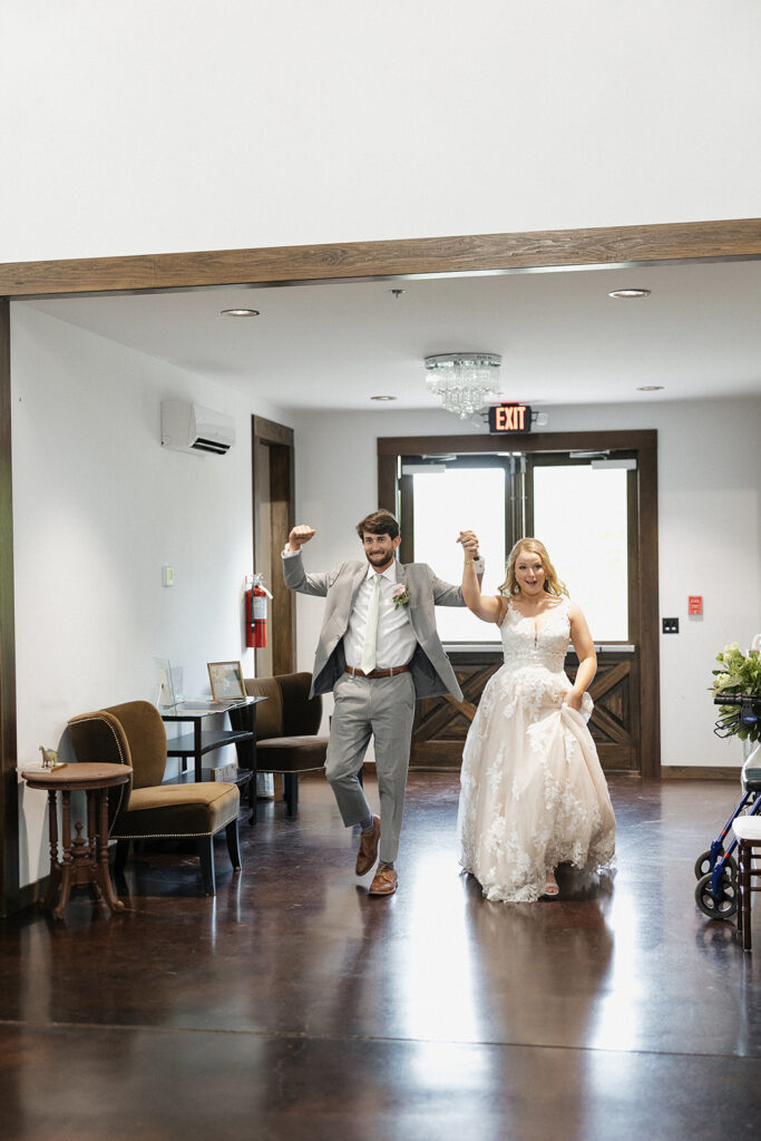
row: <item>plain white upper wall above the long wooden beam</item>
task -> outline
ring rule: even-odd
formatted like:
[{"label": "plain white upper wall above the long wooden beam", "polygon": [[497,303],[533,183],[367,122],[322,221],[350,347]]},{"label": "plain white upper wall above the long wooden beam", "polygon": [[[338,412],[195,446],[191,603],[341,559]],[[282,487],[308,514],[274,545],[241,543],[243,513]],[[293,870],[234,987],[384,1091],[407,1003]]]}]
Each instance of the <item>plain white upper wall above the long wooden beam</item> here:
[{"label": "plain white upper wall above the long wooden beam", "polygon": [[3,0],[0,261],[744,218],[758,0]]}]

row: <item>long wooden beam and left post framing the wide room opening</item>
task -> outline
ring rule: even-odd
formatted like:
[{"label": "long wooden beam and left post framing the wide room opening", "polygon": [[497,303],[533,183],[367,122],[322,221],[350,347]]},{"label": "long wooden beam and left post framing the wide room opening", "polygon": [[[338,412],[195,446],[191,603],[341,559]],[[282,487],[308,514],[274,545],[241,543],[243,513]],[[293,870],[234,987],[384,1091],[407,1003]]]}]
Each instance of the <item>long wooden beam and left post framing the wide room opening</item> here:
[{"label": "long wooden beam and left post framing the wide room opening", "polygon": [[761,258],[761,218],[0,264],[0,915],[19,905],[8,300]]}]

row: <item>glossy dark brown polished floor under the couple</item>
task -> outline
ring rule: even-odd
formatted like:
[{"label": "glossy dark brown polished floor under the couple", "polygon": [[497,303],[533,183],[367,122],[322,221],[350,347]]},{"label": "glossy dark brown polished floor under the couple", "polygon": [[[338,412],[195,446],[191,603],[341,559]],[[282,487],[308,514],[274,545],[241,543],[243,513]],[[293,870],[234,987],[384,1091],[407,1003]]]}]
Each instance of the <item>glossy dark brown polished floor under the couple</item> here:
[{"label": "glossy dark brown polished floor under the couple", "polygon": [[[372,779],[367,787],[375,795]],[[734,783],[613,778],[617,874],[489,904],[456,777],[415,774],[399,891],[370,898],[322,777],[241,817],[218,893],[144,855],[129,911],[0,921],[0,1138],[648,1141],[761,1135],[755,954],[694,904]]]}]

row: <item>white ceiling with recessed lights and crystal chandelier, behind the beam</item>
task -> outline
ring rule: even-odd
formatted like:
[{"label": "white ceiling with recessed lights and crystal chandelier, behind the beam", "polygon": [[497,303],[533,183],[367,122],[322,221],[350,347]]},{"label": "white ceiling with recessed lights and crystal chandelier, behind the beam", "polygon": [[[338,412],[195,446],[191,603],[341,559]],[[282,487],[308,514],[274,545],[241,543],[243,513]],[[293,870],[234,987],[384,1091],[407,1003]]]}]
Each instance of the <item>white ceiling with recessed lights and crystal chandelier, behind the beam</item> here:
[{"label": "white ceiling with recessed lights and crystal chandelier, behind the beam", "polygon": [[24,304],[282,407],[437,407],[422,358],[463,350],[501,353],[503,398],[532,405],[761,393],[761,261]]}]

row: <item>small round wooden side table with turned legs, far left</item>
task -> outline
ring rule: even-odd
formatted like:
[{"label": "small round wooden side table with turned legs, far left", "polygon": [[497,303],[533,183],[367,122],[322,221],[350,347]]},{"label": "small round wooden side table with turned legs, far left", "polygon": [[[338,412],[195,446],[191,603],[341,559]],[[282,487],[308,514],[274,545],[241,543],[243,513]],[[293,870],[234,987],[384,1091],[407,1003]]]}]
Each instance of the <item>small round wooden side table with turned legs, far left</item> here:
[{"label": "small round wooden side table with turned legs, far left", "polygon": [[[24,770],[22,776],[30,788],[41,788],[48,794],[48,824],[50,828],[50,887],[42,903],[52,908],[56,919],[62,920],[71,890],[75,885],[89,884],[96,899],[105,899],[112,912],[121,912],[124,905],[116,899],[108,874],[108,790],[127,784],[131,768],[128,764],[74,763],[50,772]],[[71,794],[87,793],[87,839],[82,837],[82,824],[75,824],[76,835],[72,840]],[[56,796],[60,793],[63,859],[58,859],[58,808]],[[60,898],[54,907],[56,892]]]}]

